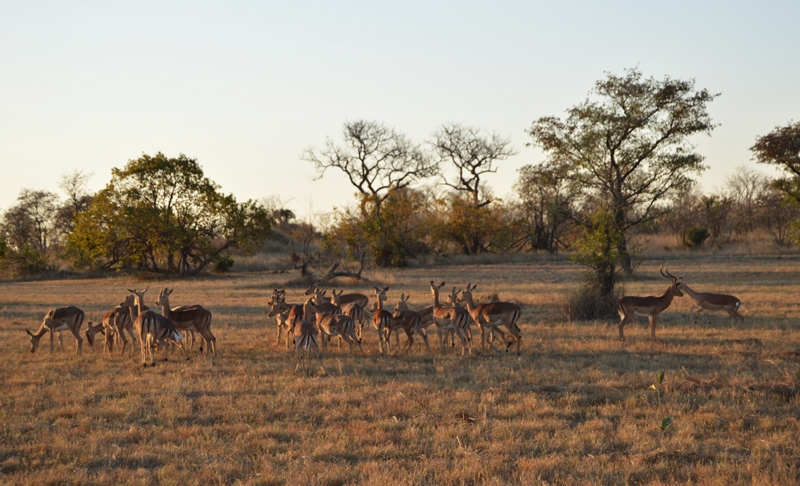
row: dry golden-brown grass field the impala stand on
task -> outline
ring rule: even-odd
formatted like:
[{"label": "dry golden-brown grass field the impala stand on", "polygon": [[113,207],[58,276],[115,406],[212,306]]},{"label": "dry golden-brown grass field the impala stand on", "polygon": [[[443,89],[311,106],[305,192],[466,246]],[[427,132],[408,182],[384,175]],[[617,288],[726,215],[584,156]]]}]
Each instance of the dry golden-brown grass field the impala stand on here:
[{"label": "dry golden-brown grass field the impala stand on", "polygon": [[[129,278],[0,284],[0,483],[5,484],[796,484],[800,482],[800,257],[673,259],[695,290],[732,293],[744,323],[690,322],[676,299],[651,342],[644,318],[568,322],[580,282],[567,262],[377,272],[392,305],[431,300],[428,282],[521,304],[522,355],[367,358],[329,348],[327,375],[294,373],[264,303],[286,275],[141,282]],[[645,261],[633,295],[660,295]],[[551,282],[554,274],[560,277]],[[142,368],[64,336],[29,352],[24,329],[72,304],[96,321],[127,288],[175,288],[173,305],[214,313],[219,355]],[[350,290],[366,292],[367,286]],[[300,301],[302,289],[287,290]],[[371,294],[374,297],[374,294]],[[374,300],[374,298],[371,298]],[[151,306],[154,307],[154,306]],[[84,323],[82,331],[85,331]],[[476,333],[477,335],[477,333]],[[402,341],[402,340],[401,340]],[[432,336],[432,348],[438,347]],[[665,372],[663,396],[650,388]],[[665,417],[673,423],[658,428]]]}]

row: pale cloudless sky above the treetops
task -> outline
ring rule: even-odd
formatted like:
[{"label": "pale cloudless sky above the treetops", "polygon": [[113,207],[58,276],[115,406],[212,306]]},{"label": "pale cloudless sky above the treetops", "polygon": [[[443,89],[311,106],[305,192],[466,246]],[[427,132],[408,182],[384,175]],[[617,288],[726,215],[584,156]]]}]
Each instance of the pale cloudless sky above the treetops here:
[{"label": "pale cloudless sky above the treetops", "polygon": [[22,188],[142,153],[197,158],[237,199],[278,195],[299,215],[354,201],[302,150],[346,120],[423,142],[447,121],[497,131],[519,154],[531,123],[564,116],[605,72],[694,78],[722,93],[692,141],[721,186],[755,138],[800,119],[800,2],[260,1],[0,3],[0,209]]}]

